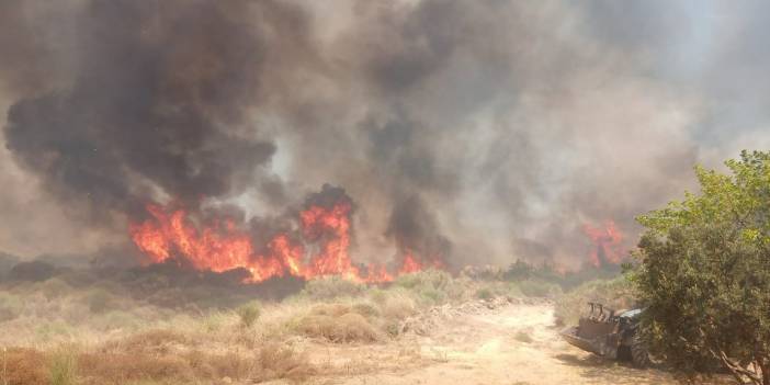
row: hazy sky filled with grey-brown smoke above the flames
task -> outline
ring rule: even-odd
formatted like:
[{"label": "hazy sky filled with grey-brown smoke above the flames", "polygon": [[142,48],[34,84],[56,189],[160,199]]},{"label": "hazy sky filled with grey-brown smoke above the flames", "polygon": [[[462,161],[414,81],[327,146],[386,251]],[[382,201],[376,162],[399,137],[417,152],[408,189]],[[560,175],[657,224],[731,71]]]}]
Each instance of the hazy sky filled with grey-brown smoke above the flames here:
[{"label": "hazy sky filled with grey-brown smoke above the flames", "polygon": [[329,183],[354,258],[579,264],[585,224],[632,247],[694,163],[770,144],[765,8],[3,2],[0,249],[120,242],[149,201],[260,228]]}]

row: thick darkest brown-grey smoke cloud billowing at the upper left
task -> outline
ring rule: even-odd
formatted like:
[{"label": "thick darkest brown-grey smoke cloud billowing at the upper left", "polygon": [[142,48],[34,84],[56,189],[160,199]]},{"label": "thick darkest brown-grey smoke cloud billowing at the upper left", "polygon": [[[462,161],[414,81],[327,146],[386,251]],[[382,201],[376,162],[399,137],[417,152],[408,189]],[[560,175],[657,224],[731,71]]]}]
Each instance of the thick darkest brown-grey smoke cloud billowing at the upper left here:
[{"label": "thick darkest brown-grey smoke cloud billowing at the upper left", "polygon": [[248,110],[304,23],[271,2],[89,2],[72,87],[11,106],[7,146],[54,194],[100,211],[135,212],[157,188],[188,205],[242,190],[275,151]]}]

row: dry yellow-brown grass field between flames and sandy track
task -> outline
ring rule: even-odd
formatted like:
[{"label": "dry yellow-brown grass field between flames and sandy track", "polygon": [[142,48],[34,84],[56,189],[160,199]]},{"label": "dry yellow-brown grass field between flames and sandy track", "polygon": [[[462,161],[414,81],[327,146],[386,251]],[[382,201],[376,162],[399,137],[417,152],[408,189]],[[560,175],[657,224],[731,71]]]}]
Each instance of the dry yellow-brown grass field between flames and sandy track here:
[{"label": "dry yellow-brown grass field between flames and sandy track", "polygon": [[[472,296],[478,288],[475,284],[440,272],[409,274],[380,288],[326,280],[310,283],[306,292],[288,301],[262,302],[260,312],[245,314],[236,305],[170,310],[134,302],[115,290],[109,291],[110,306],[100,306],[100,301],[87,301],[101,299],[87,295],[91,287],[50,281],[9,292],[7,296],[18,301],[8,302],[14,305],[14,317],[0,319],[0,328],[9,330],[0,336],[0,343],[38,349],[9,351],[9,384],[49,384],[55,372],[64,384],[82,385],[217,384],[225,378],[234,383],[302,382],[319,372],[374,369],[354,361],[326,367],[312,363],[301,347],[332,342],[327,344],[332,350],[364,349],[370,347],[360,344],[389,338],[401,343],[399,325],[405,319],[428,306]],[[256,304],[251,301],[240,304]],[[57,361],[56,347],[61,342],[77,342],[78,348]],[[403,367],[416,360],[409,354],[364,361]],[[444,358],[439,354],[435,360]]]}]

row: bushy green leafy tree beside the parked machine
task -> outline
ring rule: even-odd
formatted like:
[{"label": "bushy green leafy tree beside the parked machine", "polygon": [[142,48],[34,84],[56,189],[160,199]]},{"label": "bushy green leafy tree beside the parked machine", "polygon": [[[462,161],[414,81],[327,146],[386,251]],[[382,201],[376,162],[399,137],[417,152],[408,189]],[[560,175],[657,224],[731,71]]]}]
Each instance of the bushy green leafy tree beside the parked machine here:
[{"label": "bushy green leafy tree beside the parked machine", "polygon": [[691,378],[726,367],[770,384],[770,152],[725,165],[697,167],[700,194],[637,218],[632,280],[653,353]]}]

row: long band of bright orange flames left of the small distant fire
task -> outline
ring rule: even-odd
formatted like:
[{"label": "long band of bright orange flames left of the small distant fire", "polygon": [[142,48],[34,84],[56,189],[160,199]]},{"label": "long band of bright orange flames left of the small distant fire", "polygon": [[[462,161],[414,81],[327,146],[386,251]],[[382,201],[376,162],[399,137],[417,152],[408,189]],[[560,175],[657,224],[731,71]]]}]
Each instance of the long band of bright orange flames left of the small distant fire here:
[{"label": "long band of bright orange flames left of the small distant fire", "polygon": [[[394,280],[385,265],[364,268],[352,262],[349,202],[330,207],[310,205],[299,212],[299,235],[278,234],[261,252],[254,251],[252,238],[231,220],[195,226],[184,210],[157,204],[148,204],[146,208],[150,218],[132,224],[129,233],[149,263],[175,259],[196,270],[214,272],[242,268],[251,274],[248,280],[251,283],[285,275],[304,279],[339,275],[366,283]],[[443,267],[439,258],[423,264],[411,251],[406,251],[397,273],[420,271],[427,265]]]}]

